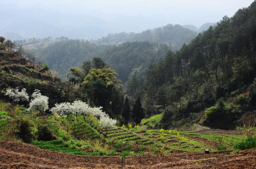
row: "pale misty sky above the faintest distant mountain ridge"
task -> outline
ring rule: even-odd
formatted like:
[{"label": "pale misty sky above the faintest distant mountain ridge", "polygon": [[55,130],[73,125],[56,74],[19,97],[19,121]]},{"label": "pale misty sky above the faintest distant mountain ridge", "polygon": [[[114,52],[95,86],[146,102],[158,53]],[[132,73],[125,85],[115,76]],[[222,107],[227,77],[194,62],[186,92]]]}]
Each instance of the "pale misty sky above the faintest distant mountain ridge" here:
[{"label": "pale misty sky above the faintest distant mountain ridge", "polygon": [[[253,0],[1,0],[23,8],[47,8],[52,11],[88,14],[105,20],[122,16],[145,16],[172,24],[200,26],[231,17]],[[15,12],[15,11],[14,11]]]}]

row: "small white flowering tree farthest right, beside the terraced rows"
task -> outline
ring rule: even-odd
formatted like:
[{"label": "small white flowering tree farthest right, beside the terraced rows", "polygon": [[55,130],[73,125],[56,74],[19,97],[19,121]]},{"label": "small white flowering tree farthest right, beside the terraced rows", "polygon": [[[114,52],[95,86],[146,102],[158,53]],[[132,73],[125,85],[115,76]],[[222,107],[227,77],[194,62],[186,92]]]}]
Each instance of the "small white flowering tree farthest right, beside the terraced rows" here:
[{"label": "small white flowering tree farthest right, beside the terraced rows", "polygon": [[108,135],[108,131],[116,127],[116,119],[112,119],[109,116],[102,116],[99,118],[99,127],[105,131],[105,135]]}]

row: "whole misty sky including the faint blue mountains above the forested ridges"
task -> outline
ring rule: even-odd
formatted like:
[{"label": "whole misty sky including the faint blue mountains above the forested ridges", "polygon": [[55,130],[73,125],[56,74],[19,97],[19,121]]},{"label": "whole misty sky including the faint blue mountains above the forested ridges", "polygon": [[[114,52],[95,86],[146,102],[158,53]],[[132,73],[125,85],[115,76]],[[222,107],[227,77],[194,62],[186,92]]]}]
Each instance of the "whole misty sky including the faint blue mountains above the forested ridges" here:
[{"label": "whole misty sky including the faint blue mountains above the forested ridges", "polygon": [[[0,0],[0,35],[9,39],[98,39],[167,24],[216,23],[253,0]],[[191,26],[190,26],[191,28]],[[207,28],[206,28],[207,29]],[[197,30],[196,28],[193,30]],[[201,30],[201,29],[199,29]]]}]

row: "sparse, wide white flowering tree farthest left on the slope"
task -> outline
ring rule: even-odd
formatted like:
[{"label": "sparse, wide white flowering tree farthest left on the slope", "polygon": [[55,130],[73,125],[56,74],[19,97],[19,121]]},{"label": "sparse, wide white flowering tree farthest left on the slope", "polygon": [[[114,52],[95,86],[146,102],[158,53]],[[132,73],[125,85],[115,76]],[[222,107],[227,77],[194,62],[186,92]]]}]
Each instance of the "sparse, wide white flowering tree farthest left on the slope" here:
[{"label": "sparse, wide white flowering tree farthest left on the slope", "polygon": [[23,88],[21,89],[21,91],[19,91],[20,89],[17,87],[15,89],[7,89],[5,96],[8,96],[10,99],[12,99],[12,101],[19,103],[22,101],[29,101],[29,95],[28,93],[26,93],[26,89]]}]

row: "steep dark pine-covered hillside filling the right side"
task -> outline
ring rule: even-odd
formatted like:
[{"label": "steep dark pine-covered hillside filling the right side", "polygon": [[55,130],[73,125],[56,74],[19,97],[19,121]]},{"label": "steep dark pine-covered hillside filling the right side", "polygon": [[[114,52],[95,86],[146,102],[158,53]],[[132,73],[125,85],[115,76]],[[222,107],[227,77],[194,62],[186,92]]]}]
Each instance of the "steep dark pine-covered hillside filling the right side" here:
[{"label": "steep dark pine-covered hillside filling the right side", "polygon": [[[242,114],[256,110],[255,57],[253,2],[148,68],[147,83],[140,87],[146,88],[140,96],[147,115],[164,112],[165,128],[186,124],[187,118],[225,129],[234,128],[240,118],[250,121],[254,114]],[[200,112],[201,121],[193,114]]]}]

